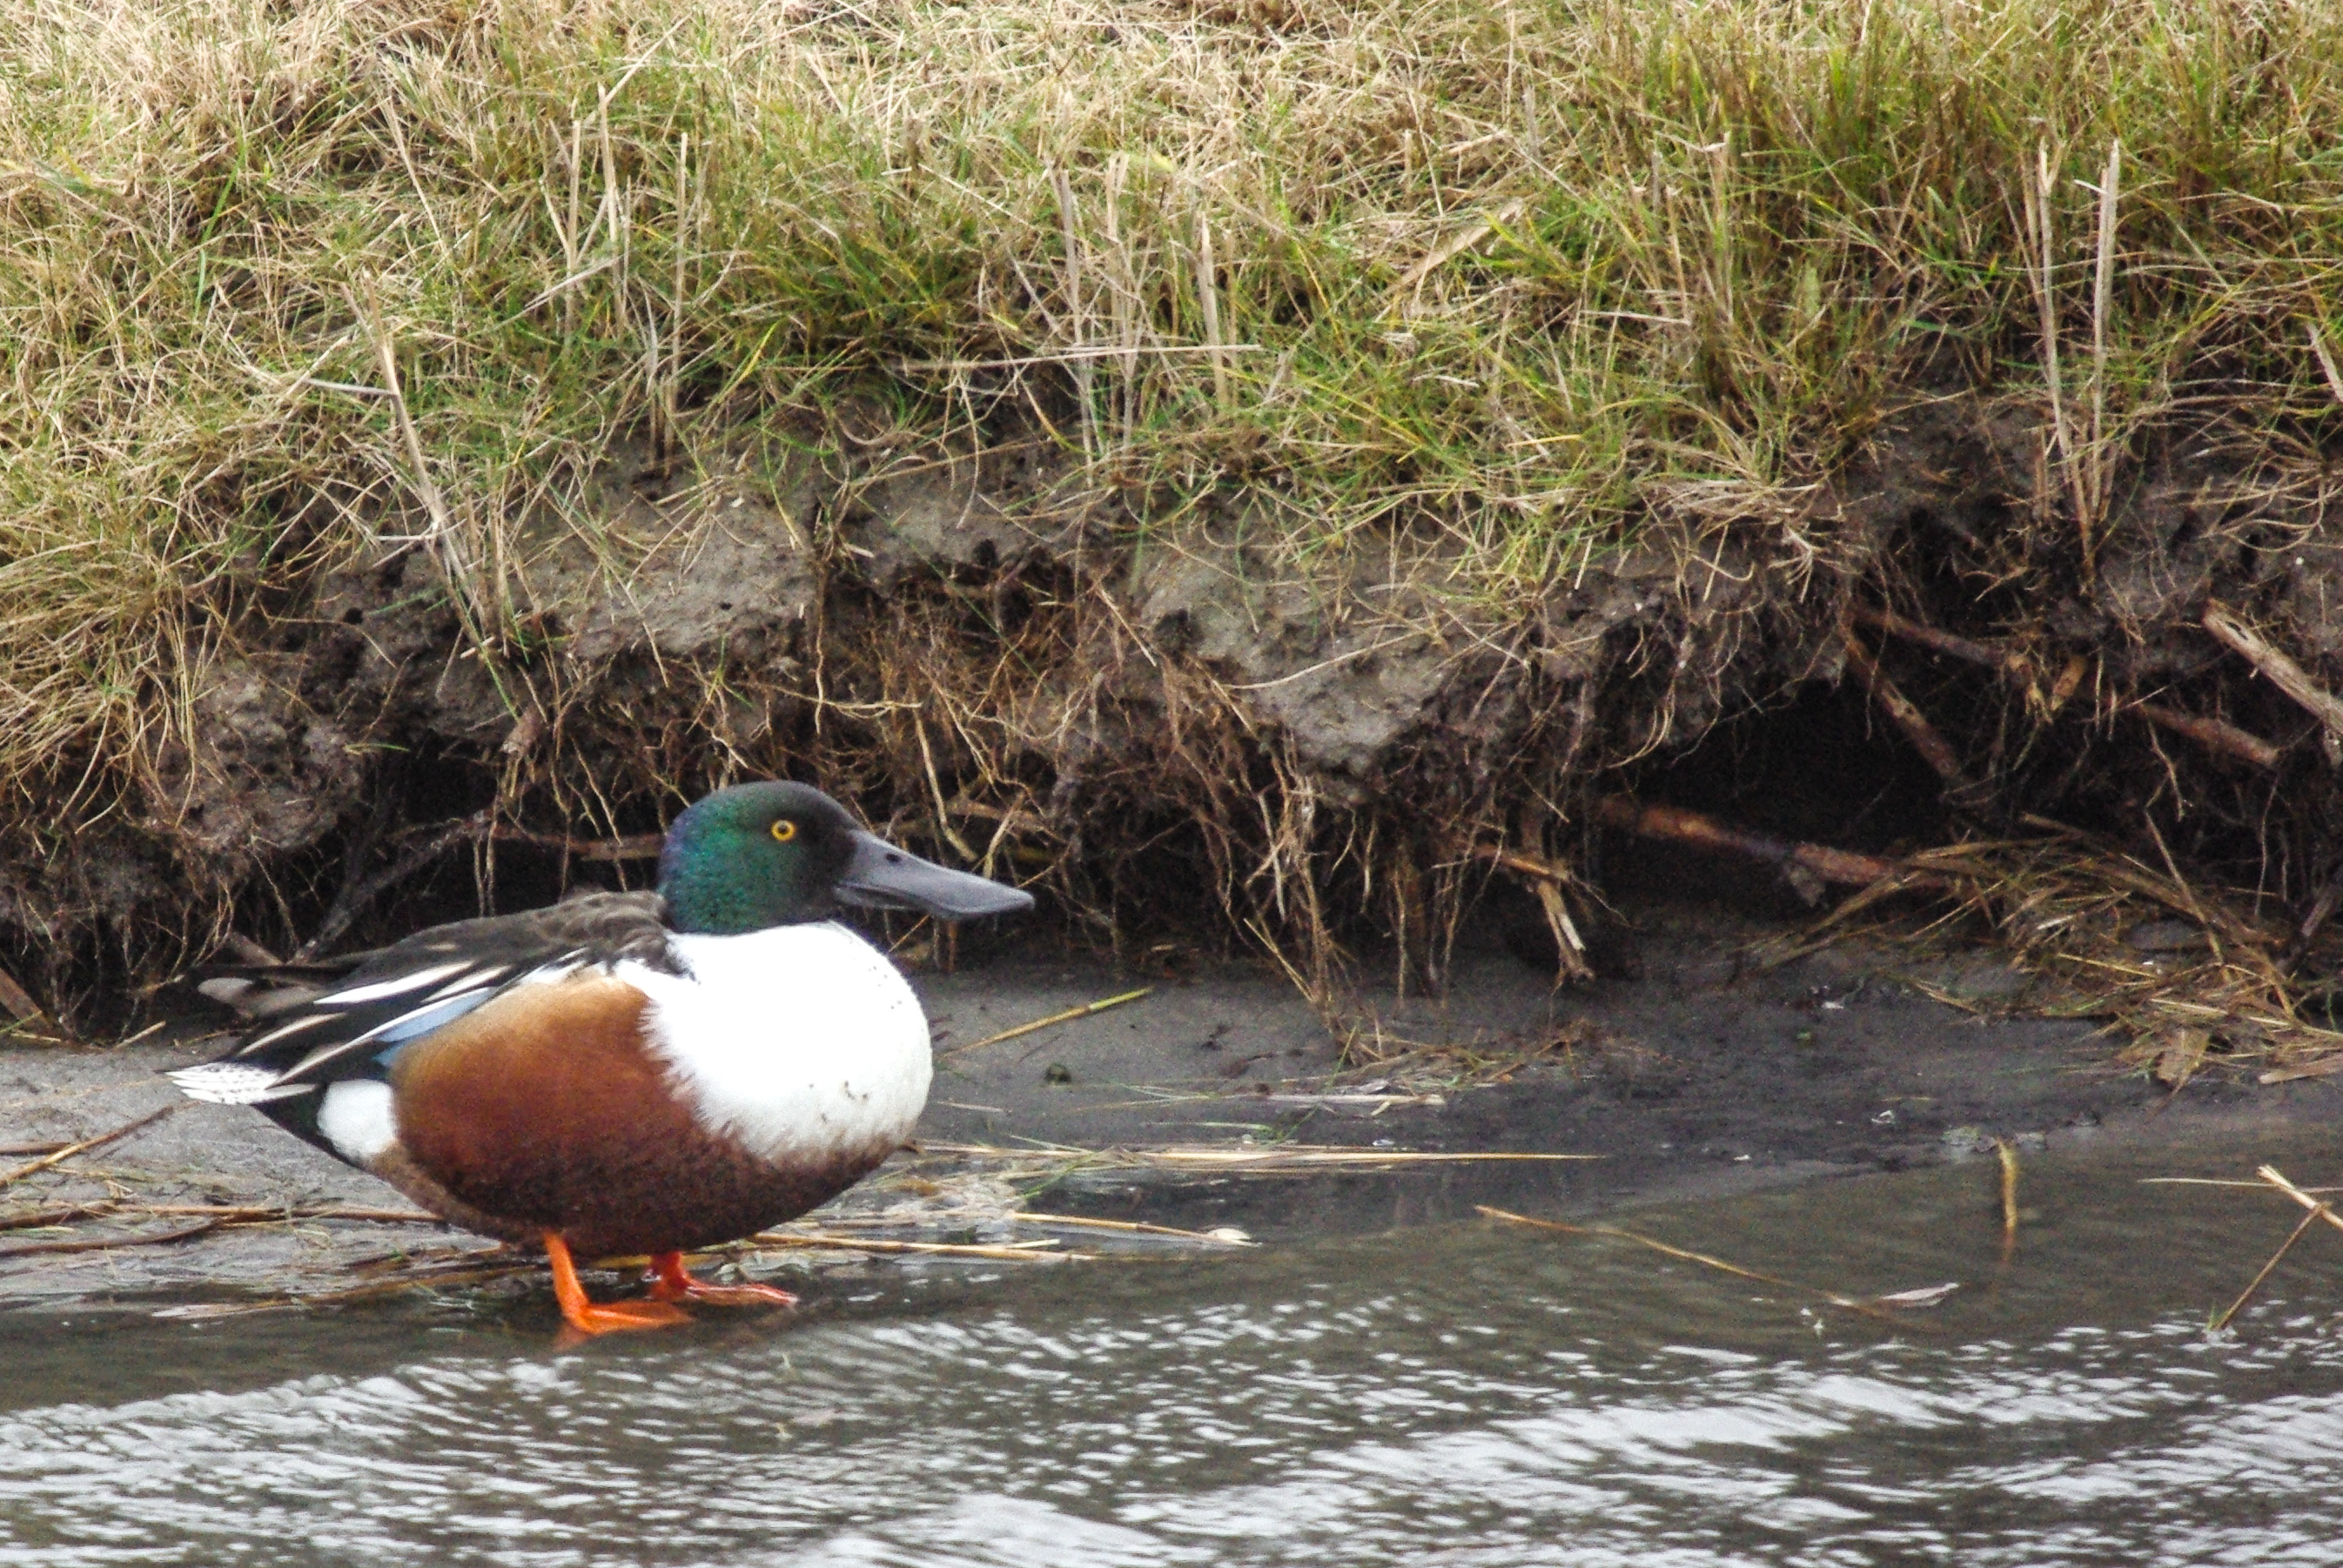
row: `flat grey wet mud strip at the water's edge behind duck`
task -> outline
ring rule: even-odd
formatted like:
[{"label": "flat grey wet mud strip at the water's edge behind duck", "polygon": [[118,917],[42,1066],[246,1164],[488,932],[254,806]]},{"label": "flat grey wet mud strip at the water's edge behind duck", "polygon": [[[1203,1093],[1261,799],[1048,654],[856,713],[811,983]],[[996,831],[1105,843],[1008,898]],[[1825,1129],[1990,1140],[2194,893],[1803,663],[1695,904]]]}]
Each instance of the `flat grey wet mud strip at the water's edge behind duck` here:
[{"label": "flat grey wet mud strip at the water's edge behind duck", "polygon": [[[2008,1139],[2020,1160],[2207,1132],[2252,1146],[2336,1109],[2324,1080],[2266,1090],[2198,1080],[2172,1097],[2144,1076],[2113,1076],[2085,1024],[1989,1017],[2022,977],[1987,952],[1914,973],[1893,952],[1835,949],[1755,973],[1736,954],[1767,935],[1762,923],[1713,905],[1635,914],[1642,975],[1579,991],[1556,994],[1502,945],[1467,942],[1446,998],[1385,998],[1389,1055],[1366,1071],[1340,1066],[1338,1041],[1286,980],[1244,966],[1150,977],[1029,947],[923,975],[940,1052],[923,1151],[806,1228],[947,1247],[1045,1235],[1087,1252],[1164,1245],[1007,1219],[1050,1212],[1237,1226],[1277,1242],[1455,1219],[1474,1202],[1598,1214],[1980,1155],[1977,1212],[1989,1216],[1994,1139]],[[1141,984],[1153,989],[1139,1001],[975,1045]],[[199,1041],[9,1050],[0,1057],[0,1146],[40,1151],[173,1104],[155,1073],[209,1050]],[[1143,1153],[1291,1144],[1593,1158],[1258,1174]],[[9,1165],[21,1158],[12,1153]],[[73,1216],[98,1205],[117,1209]],[[199,1228],[204,1205],[291,1205],[300,1216],[108,1245]],[[356,1308],[351,1291],[431,1287],[410,1270],[499,1261],[478,1238],[440,1226],[333,1216],[403,1207],[260,1116],[190,1104],[117,1146],[12,1184],[0,1198],[0,1223],[12,1226],[0,1230],[0,1303],[185,1310],[333,1296]],[[59,1223],[26,1223],[40,1216]],[[766,1249],[743,1254],[743,1266],[832,1289],[822,1280],[839,1270],[851,1282],[904,1261]],[[909,1266],[1015,1259],[947,1254]],[[604,1280],[616,1284],[616,1275]],[[433,1289],[466,1313],[544,1305],[541,1268],[448,1273]]]}]

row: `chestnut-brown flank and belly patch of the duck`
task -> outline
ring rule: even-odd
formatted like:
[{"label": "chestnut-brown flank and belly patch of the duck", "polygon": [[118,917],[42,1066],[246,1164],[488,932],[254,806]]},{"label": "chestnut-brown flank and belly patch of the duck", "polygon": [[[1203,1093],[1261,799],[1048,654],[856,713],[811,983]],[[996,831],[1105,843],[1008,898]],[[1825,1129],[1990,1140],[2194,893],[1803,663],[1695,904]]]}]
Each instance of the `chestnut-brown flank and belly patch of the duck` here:
[{"label": "chestnut-brown flank and belly patch of the duck", "polygon": [[375,1174],[450,1221],[581,1254],[708,1247],[829,1202],[893,1153],[771,1163],[715,1137],[642,1045],[647,998],[609,975],[508,991],[391,1073],[398,1144]]}]

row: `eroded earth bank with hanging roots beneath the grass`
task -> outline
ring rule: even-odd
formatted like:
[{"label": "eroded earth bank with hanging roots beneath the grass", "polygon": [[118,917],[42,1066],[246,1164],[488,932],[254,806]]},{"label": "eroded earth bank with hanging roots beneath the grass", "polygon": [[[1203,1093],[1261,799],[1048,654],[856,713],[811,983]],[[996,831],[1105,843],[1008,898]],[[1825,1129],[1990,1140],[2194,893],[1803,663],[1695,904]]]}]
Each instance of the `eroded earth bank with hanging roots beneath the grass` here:
[{"label": "eroded earth bank with hanging roots beneath the grass", "polygon": [[[1600,825],[1640,799],[1874,851],[1863,898],[1963,905],[2071,982],[2127,966],[2144,921],[2212,933],[2219,963],[2132,966],[2104,1008],[2146,1057],[2294,1071],[2343,1041],[2315,701],[2343,605],[2324,492],[2291,469],[2158,457],[2078,574],[2041,553],[2043,431],[1947,396],[1795,509],[1687,492],[1488,600],[1443,586],[1436,532],[1298,563],[1265,544],[1268,490],[1160,527],[1162,497],[996,424],[621,450],[583,513],[518,527],[487,640],[429,551],[321,558],[265,635],[206,654],[134,797],[0,834],[0,959],[52,1010],[119,1017],[223,945],[640,886],[684,799],[792,776],[1031,884],[1108,956],[1270,954],[1321,1003],[1436,991],[1502,891],[1544,900],[1584,980],[1642,853]],[[2268,677],[2275,645],[2308,687]],[[1982,848],[1914,870],[1940,846]],[[1781,872],[1804,907],[1846,895]],[[2052,872],[2074,909],[2041,907]]]}]

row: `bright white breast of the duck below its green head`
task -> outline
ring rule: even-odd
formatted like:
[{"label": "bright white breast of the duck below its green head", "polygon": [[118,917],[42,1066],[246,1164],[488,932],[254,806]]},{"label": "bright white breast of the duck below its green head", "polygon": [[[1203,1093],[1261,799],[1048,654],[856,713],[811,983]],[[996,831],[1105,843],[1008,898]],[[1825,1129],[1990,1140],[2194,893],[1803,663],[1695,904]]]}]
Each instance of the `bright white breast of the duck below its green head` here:
[{"label": "bright white breast of the duck below its green head", "polygon": [[616,973],[651,998],[644,1045],[710,1132],[776,1163],[888,1148],[928,1104],[928,1017],[853,930],[773,926],[670,938],[689,975]]}]

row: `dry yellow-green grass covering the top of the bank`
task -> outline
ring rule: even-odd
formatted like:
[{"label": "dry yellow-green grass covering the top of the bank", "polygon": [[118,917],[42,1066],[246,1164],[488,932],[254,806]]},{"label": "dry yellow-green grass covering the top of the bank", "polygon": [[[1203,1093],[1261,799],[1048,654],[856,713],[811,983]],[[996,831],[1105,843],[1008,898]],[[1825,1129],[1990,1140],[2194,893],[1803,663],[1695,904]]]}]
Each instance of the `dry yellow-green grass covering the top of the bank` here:
[{"label": "dry yellow-green grass covering the top of the bank", "polygon": [[1963,391],[2055,405],[2043,527],[2088,572],[2158,431],[2247,466],[2331,436],[2338,23],[23,0],[7,811],[169,818],[213,661],[387,544],[527,682],[515,534],[621,441],[1015,415],[1047,504],[1129,541],[1239,530],[1507,616],[1635,544],[1795,579],[1835,551],[1816,485]]}]

